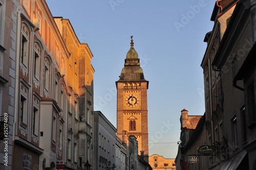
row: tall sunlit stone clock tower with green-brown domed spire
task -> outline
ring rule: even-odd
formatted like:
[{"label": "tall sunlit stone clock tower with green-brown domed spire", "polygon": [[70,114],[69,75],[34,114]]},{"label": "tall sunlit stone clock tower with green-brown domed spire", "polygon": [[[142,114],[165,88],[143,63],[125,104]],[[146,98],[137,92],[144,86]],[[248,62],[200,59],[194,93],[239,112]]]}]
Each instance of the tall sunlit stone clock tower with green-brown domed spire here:
[{"label": "tall sunlit stone clock tower with green-brown domed spire", "polygon": [[[133,38],[133,37],[131,37]],[[140,67],[138,53],[131,48],[126,54],[124,67],[121,70],[117,87],[117,136],[135,136],[138,141],[138,154],[148,161],[148,128],[147,128],[147,89]],[[129,142],[126,141],[127,144]]]}]

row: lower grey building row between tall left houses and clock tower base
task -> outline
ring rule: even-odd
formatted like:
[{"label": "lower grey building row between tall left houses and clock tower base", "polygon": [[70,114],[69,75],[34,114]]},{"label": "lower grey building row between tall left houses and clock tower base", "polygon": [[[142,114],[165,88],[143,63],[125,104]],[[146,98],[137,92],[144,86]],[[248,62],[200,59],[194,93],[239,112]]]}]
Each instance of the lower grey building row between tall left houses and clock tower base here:
[{"label": "lower grey building row between tall left houses and clock tower base", "polygon": [[100,112],[94,111],[94,160],[92,169],[152,169],[143,156],[138,155],[138,141],[133,135],[116,135],[117,129]]}]

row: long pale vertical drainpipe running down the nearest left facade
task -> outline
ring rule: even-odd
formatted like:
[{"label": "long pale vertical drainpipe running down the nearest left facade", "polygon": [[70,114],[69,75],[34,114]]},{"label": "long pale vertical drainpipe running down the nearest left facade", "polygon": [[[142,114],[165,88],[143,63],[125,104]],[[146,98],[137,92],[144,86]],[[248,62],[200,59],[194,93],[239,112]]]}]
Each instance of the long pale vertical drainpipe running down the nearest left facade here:
[{"label": "long pale vertical drainpipe running down the nearest left facade", "polygon": [[19,84],[19,51],[20,51],[20,26],[22,20],[20,17],[20,10],[17,12],[17,22],[16,22],[16,47],[15,47],[15,86],[14,86],[14,113],[13,113],[13,134],[12,141],[15,139],[15,129],[18,116],[18,84]]}]

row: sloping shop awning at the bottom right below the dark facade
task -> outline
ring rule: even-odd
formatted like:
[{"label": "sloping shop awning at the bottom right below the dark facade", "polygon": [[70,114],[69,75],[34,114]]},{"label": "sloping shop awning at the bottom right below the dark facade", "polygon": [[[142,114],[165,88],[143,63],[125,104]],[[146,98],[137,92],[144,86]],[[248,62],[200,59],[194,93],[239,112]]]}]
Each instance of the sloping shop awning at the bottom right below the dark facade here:
[{"label": "sloping shop awning at the bottom right below the dark facade", "polygon": [[237,155],[231,157],[230,159],[228,159],[224,165],[222,166],[221,170],[233,170],[233,169],[237,169],[237,167],[239,166],[239,164],[242,162],[242,160],[244,159],[245,155],[246,155],[246,151],[243,150],[240,153],[238,153]]}]

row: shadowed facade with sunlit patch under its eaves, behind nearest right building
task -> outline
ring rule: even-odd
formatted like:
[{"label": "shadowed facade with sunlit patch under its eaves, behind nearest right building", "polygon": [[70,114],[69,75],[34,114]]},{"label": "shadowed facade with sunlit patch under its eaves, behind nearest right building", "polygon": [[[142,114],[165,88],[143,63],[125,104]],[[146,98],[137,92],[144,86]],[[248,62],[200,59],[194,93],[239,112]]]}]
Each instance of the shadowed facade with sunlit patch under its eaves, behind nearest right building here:
[{"label": "shadowed facade with sunlit patch under its eaves, behind nearest right building", "polygon": [[[217,2],[218,3],[218,2]],[[230,2],[227,2],[229,4]],[[223,3],[225,4],[225,3]],[[207,42],[207,48],[202,60],[202,68],[204,69],[204,89],[205,89],[205,118],[206,118],[206,144],[212,145],[215,142],[224,142],[224,139],[227,138],[227,134],[230,132],[225,131],[225,126],[229,127],[230,124],[225,119],[224,116],[227,113],[223,112],[223,98],[224,95],[230,96],[231,94],[224,94],[224,87],[223,87],[223,75],[222,71],[226,71],[222,69],[221,71],[212,66],[212,61],[214,61],[216,54],[218,52],[219,45],[222,41],[223,35],[228,25],[228,21],[232,15],[234,8],[236,7],[236,3],[232,4],[228,8],[223,6],[222,11],[219,13],[213,13],[216,18],[213,20],[214,28],[212,29],[209,37],[206,38],[204,41]],[[215,8],[220,9],[218,6]],[[228,90],[233,90],[232,88],[228,87]],[[236,94],[240,95],[240,91]],[[225,102],[231,102],[232,99],[225,100]],[[230,107],[231,108],[231,107]],[[224,155],[217,154],[217,156],[209,156],[208,162],[209,167],[216,166],[216,164],[220,164],[222,160],[225,159]],[[221,165],[220,165],[221,166]]]}]

